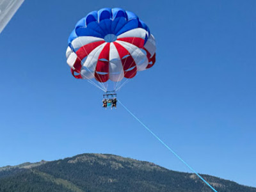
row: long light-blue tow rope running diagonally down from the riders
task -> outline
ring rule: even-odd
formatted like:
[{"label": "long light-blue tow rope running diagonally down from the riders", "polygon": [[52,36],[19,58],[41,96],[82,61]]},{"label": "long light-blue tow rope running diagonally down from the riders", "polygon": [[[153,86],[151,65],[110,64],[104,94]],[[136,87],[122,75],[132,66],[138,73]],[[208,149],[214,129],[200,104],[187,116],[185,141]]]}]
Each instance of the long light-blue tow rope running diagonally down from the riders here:
[{"label": "long light-blue tow rope running diagonally down from the riders", "polygon": [[118,102],[123,106],[123,108],[124,108],[128,113],[131,114],[131,116],[133,116],[141,125],[143,125],[143,127],[145,127],[145,129],[147,129],[148,132],[150,132],[158,141],[160,141],[160,143],[162,143],[162,144],[164,145],[164,147],[168,148],[168,150],[170,150],[170,152],[172,152],[172,153],[173,153],[182,163],[184,163],[193,173],[195,173],[202,181],[204,181],[205,184],[207,184],[207,186],[209,186],[209,187],[212,189],[212,191],[218,192],[218,191],[216,191],[216,189],[214,189],[203,177],[201,177],[201,176],[199,175],[199,173],[197,173],[193,168],[191,168],[191,166],[189,166],[189,164],[186,163],[186,161],[184,161],[180,156],[178,156],[178,154],[176,154],[176,153],[172,150],[172,148],[168,147],[168,145],[166,145],[166,143],[164,143],[163,140],[161,140],[156,134],[154,134],[154,132],[151,131],[151,130],[147,127],[147,125],[143,124],[143,122],[141,122],[140,119],[138,119],[129,109],[127,109],[127,108],[124,106],[124,104],[122,104],[122,102],[120,102],[119,99],[118,99]]}]

